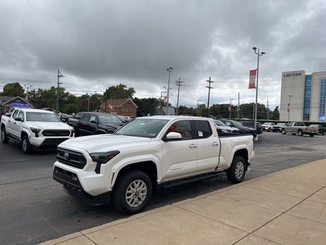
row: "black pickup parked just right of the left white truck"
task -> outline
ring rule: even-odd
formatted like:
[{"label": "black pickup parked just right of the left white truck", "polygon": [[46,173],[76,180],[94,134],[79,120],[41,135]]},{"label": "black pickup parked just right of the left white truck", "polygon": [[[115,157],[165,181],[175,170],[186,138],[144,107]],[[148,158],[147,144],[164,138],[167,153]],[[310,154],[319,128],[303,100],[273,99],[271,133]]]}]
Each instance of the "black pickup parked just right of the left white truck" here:
[{"label": "black pickup parked just right of the left white truck", "polygon": [[75,129],[76,136],[112,134],[124,125],[116,115],[101,112],[82,112],[80,119],[70,117],[68,123]]}]

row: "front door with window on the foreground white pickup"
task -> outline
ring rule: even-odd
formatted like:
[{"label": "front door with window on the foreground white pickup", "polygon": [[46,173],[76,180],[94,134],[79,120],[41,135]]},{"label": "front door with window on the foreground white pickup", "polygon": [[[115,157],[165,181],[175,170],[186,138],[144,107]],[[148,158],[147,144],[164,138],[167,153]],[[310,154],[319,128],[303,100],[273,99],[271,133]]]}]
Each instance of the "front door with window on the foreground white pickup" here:
[{"label": "front door with window on the foreground white pickup", "polygon": [[[167,141],[170,132],[180,133],[182,139]],[[197,173],[198,144],[193,136],[191,120],[178,120],[170,125],[161,138],[162,181],[189,177]]]}]

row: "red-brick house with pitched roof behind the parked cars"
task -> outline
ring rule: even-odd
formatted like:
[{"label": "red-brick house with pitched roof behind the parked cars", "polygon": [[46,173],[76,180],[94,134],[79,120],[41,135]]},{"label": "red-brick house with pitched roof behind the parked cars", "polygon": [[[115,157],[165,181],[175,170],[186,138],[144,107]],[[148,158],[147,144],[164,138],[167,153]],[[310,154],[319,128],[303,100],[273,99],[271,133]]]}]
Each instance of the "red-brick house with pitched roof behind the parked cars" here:
[{"label": "red-brick house with pitched roof behind the parked cars", "polygon": [[[131,99],[106,100],[106,113],[136,117],[137,108]],[[105,102],[100,105],[100,112],[105,112]]]}]

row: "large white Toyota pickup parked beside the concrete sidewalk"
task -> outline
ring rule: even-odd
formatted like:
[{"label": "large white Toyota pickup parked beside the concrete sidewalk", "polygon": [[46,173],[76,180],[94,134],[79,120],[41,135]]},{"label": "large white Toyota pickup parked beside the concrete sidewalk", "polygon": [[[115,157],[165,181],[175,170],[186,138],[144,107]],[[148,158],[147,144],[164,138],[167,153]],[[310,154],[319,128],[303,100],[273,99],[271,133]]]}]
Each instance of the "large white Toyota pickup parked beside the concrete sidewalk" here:
[{"label": "large white Toyota pickup parked beside the concrete sidewalk", "polygon": [[230,182],[241,182],[253,148],[253,135],[218,135],[210,118],[139,117],[114,134],[62,142],[53,179],[84,202],[100,205],[112,199],[119,211],[131,214],[140,212],[157,188],[223,171]]}]

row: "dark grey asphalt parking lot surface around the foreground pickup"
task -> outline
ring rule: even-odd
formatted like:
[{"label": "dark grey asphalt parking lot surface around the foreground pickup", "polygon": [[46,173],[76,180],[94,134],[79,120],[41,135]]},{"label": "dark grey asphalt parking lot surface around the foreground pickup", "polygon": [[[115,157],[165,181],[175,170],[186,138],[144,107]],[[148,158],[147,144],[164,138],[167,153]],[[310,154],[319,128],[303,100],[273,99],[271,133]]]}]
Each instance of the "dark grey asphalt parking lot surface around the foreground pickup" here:
[{"label": "dark grey asphalt parking lot surface around the foreground pickup", "polygon": [[[255,141],[255,158],[245,180],[324,159],[326,136],[267,133]],[[23,155],[20,145],[0,143],[0,244],[35,244],[125,217],[111,205],[75,200],[52,180],[56,152]],[[146,210],[231,185],[225,174],[209,181],[161,191]]]}]

